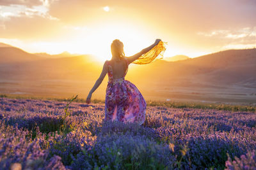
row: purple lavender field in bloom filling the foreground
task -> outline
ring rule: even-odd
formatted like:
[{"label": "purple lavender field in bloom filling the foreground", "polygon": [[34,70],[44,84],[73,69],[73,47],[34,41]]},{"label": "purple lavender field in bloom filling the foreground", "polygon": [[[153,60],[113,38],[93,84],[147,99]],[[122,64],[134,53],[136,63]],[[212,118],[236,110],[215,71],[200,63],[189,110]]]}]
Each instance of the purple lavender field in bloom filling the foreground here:
[{"label": "purple lavender field in bloom filling the foreground", "polygon": [[256,169],[256,113],[148,106],[140,126],[104,122],[104,104],[0,100],[0,169]]}]

